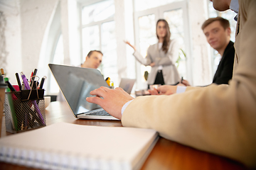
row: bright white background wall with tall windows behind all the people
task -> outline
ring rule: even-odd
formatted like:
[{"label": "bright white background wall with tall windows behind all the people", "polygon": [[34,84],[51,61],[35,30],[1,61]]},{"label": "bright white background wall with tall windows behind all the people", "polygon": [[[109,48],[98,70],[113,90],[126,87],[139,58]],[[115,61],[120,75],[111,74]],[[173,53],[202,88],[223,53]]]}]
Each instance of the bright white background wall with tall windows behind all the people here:
[{"label": "bright white background wall with tall windows behind all the people", "polygon": [[[137,79],[134,90],[146,89],[144,72],[129,40],[143,56],[157,42],[156,21],[169,22],[171,39],[181,45],[178,72],[193,86],[210,84],[220,55],[206,41],[201,25],[222,16],[231,24],[233,11],[218,12],[209,0],[0,0],[0,67],[16,84],[15,73],[46,76],[45,94],[57,94],[58,85],[48,63],[78,66],[90,50],[104,54],[100,71],[114,86],[121,78]],[[28,77],[27,76],[27,77]]]}]

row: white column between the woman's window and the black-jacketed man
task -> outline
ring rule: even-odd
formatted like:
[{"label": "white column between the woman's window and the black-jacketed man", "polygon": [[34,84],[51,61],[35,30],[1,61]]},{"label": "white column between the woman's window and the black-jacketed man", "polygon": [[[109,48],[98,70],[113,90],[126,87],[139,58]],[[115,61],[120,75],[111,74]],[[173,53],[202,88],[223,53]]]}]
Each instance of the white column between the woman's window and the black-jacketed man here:
[{"label": "white column between the woman's window and the black-jacketed man", "polygon": [[193,86],[212,82],[210,49],[201,26],[208,18],[208,4],[204,0],[188,0],[188,13],[191,25]]}]

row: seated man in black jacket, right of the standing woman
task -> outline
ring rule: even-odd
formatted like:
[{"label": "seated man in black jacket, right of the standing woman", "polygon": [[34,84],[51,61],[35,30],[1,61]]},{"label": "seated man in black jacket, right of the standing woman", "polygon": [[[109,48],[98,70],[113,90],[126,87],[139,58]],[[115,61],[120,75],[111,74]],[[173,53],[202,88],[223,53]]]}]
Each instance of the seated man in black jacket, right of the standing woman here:
[{"label": "seated man in black jacket, right of the standing woman", "polygon": [[[202,25],[203,33],[214,50],[217,50],[221,56],[220,63],[213,77],[215,84],[228,84],[233,76],[233,65],[235,48],[234,42],[230,41],[230,23],[225,18],[209,18]],[[190,86],[188,81],[183,80],[181,83]]]}]

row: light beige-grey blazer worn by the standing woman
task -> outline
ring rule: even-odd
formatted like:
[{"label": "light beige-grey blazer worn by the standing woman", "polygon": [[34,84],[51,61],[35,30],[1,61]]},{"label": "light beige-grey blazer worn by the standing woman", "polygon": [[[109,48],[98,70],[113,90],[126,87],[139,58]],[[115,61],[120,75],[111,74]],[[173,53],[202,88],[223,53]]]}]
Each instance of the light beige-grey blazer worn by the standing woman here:
[{"label": "light beige-grey blazer worn by the standing woman", "polygon": [[151,67],[151,72],[149,73],[149,77],[147,79],[148,84],[154,84],[156,74],[158,72],[158,67],[160,65],[163,66],[162,72],[164,83],[176,84],[180,79],[178,75],[178,69],[175,66],[175,62],[178,60],[178,42],[177,40],[171,40],[167,53],[159,49],[158,46],[158,43],[150,45],[145,58],[142,57],[142,55],[137,51],[135,51],[133,55],[140,63],[144,64],[145,66],[155,62],[154,67]]}]

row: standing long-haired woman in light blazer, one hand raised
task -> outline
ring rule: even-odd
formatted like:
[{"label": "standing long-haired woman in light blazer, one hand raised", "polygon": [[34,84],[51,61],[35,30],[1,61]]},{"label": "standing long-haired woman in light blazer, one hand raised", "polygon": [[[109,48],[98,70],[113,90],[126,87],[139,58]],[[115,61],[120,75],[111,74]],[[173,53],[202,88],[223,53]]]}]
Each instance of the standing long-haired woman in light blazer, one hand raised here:
[{"label": "standing long-haired woman in light blazer, one hand raised", "polygon": [[133,55],[140,63],[151,66],[151,72],[147,79],[148,85],[178,84],[180,78],[175,62],[178,60],[179,45],[176,40],[170,40],[171,32],[166,20],[159,19],[157,21],[156,36],[159,42],[149,46],[145,58],[134,45],[127,41],[126,43],[134,49]]}]

